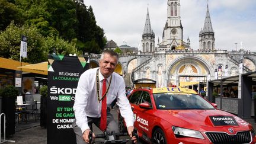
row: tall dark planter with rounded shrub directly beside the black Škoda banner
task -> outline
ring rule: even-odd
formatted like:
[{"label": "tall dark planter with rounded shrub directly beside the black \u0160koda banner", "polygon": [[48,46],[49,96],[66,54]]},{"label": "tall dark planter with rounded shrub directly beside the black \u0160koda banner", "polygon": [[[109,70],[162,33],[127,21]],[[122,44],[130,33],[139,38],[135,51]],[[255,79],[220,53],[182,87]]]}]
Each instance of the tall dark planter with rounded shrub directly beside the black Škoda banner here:
[{"label": "tall dark planter with rounded shrub directly beside the black \u0160koda banner", "polygon": [[47,85],[43,85],[43,87],[40,88],[40,126],[41,127],[47,127],[46,117],[47,117]]}]

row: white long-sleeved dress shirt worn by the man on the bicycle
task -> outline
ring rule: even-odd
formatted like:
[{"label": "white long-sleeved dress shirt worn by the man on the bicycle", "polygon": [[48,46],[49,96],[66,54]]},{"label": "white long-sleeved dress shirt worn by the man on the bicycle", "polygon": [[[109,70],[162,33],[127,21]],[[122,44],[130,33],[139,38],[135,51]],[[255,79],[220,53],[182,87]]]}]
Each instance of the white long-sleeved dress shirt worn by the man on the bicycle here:
[{"label": "white long-sleeved dress shirt worn by the man on the bicycle", "polygon": [[[76,89],[73,110],[75,111],[76,125],[81,128],[82,133],[89,129],[87,116],[101,117],[101,101],[98,103],[97,95],[97,69],[98,68],[88,69],[82,73]],[[98,76],[100,81],[99,95],[101,98],[104,76],[100,71],[98,72]],[[110,83],[110,77],[111,76],[107,78],[107,88]],[[110,88],[108,89],[106,96],[108,107],[111,105],[114,99],[117,98],[117,105],[119,105],[121,116],[124,117],[124,120],[126,121],[126,126],[133,126],[133,112],[125,94],[124,79],[116,72],[112,73]]]}]

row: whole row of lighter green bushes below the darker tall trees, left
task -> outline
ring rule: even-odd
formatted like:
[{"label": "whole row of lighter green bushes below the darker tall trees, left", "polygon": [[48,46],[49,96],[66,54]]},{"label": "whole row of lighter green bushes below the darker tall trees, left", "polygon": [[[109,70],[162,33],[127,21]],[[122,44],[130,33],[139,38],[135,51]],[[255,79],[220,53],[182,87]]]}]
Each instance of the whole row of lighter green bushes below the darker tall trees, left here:
[{"label": "whole row of lighter green bushes below the darker tall trees, left", "polygon": [[53,52],[53,47],[57,50],[57,54],[76,53],[74,44],[68,41],[53,36],[43,37],[34,26],[19,26],[11,23],[0,33],[0,57],[20,60],[21,35],[27,37],[27,58],[23,58],[23,62],[44,62],[48,53]]}]

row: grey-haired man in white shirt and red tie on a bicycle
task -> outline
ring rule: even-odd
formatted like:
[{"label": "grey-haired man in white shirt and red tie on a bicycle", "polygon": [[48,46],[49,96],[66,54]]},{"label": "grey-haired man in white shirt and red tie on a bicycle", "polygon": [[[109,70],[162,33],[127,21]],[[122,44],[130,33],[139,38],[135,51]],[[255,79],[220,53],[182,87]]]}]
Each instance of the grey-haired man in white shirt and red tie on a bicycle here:
[{"label": "grey-haired man in white shirt and red tie on a bicycle", "polygon": [[[116,52],[105,50],[100,57],[100,68],[89,69],[82,73],[79,78],[75,104],[73,105],[76,120],[72,124],[76,133],[76,143],[78,144],[89,142],[88,135],[92,129],[92,123],[103,131],[119,132],[118,124],[114,121],[110,108],[107,108],[107,120],[104,120],[107,121],[107,124],[101,122],[101,118],[104,117],[104,112],[101,113],[104,98],[106,98],[105,103],[108,107],[117,98],[121,116],[126,121],[127,132],[132,140],[136,141],[136,137],[132,136],[134,119],[132,108],[125,93],[124,79],[114,72],[118,60],[119,56]],[[104,85],[105,88],[103,88]],[[102,124],[107,126],[102,128]]]}]

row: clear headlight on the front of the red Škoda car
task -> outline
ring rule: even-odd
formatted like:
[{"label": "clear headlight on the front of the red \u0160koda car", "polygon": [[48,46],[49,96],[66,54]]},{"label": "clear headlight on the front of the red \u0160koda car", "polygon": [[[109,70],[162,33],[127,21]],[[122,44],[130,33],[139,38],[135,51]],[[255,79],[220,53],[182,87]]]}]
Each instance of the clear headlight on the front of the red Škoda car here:
[{"label": "clear headlight on the front of the red \u0160koda car", "polygon": [[184,129],[181,127],[172,126],[172,130],[175,136],[187,136],[187,137],[195,137],[199,139],[204,139],[203,135],[197,130]]}]

